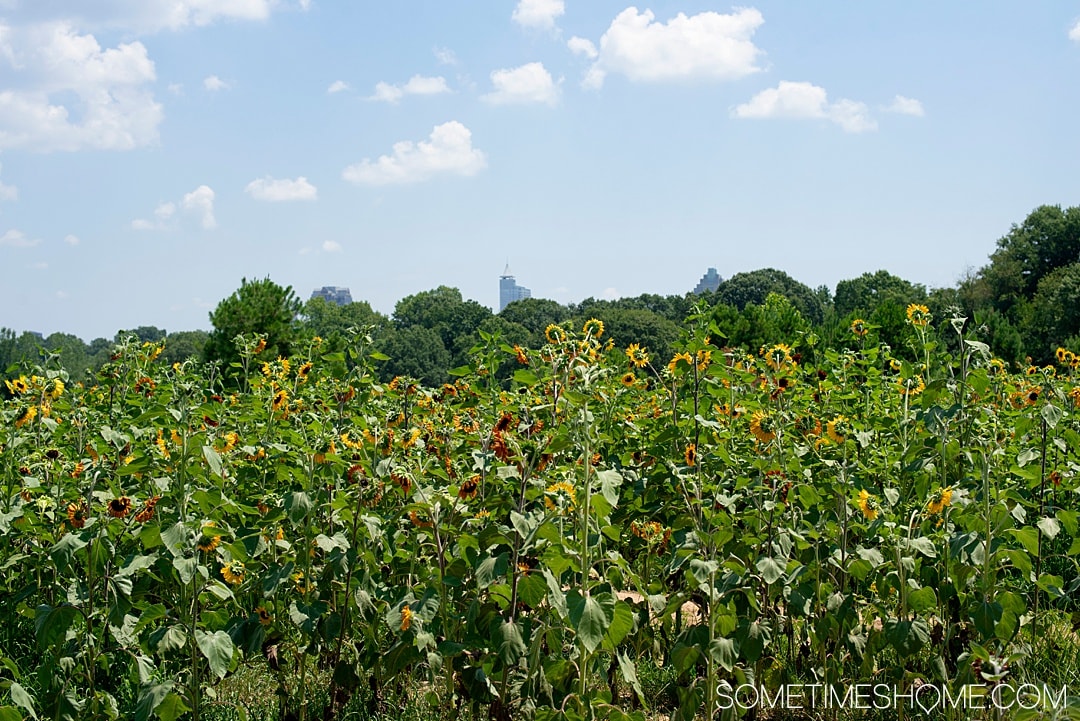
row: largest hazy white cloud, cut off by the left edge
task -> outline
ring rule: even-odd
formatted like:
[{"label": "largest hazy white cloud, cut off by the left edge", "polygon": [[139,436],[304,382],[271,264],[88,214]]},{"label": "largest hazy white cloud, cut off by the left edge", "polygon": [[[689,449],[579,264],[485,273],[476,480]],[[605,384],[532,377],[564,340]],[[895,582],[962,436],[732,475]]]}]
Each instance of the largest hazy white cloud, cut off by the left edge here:
[{"label": "largest hazy white cloud, cut off by the left edge", "polygon": [[130,150],[158,139],[163,113],[140,42],[103,50],[63,23],[0,25],[0,150]]}]

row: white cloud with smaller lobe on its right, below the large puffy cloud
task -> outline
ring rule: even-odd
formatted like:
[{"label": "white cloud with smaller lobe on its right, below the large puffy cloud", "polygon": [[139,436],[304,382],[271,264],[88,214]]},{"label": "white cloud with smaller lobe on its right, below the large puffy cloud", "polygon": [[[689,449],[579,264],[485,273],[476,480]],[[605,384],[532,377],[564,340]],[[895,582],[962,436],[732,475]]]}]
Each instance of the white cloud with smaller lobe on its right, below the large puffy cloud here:
[{"label": "white cloud with smaller lobe on its right, below the large puffy cloud", "polygon": [[841,98],[829,103],[824,87],[808,82],[781,81],[731,111],[732,118],[818,118],[829,120],[848,133],[877,128],[864,103]]}]

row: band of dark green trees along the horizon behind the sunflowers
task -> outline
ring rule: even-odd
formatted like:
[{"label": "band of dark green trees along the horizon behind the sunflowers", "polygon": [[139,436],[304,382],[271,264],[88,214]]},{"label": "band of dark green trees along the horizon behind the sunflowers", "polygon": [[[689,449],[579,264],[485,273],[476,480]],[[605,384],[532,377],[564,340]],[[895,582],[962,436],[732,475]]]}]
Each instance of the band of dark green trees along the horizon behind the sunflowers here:
[{"label": "band of dark green trees along the horizon behind the sunflowers", "polygon": [[[580,325],[590,317],[603,321],[616,343],[638,343],[653,357],[667,358],[696,307],[708,311],[723,342],[733,348],[755,351],[792,338],[800,338],[800,352],[811,355],[818,349],[853,346],[865,338],[852,331],[852,324],[861,321],[861,332],[865,329],[874,340],[902,352],[912,332],[905,323],[912,303],[927,307],[939,321],[968,318],[976,336],[1013,364],[1048,363],[1057,346],[1080,350],[1080,207],[1036,208],[998,240],[984,267],[967,272],[950,288],[928,290],[879,270],[840,281],[831,293],[767,268],[737,273],[702,296],[645,294],[566,304],[529,298],[500,313],[462,298],[457,288],[440,286],[403,298],[387,316],[364,301],[302,302],[292,287],[270,278],[244,278],[211,313],[208,332],[143,326],[87,344],[70,334],[42,338],[0,328],[0,369],[56,353],[72,377],[84,377],[109,362],[114,343],[134,336],[143,342],[165,341],[170,362],[218,363],[228,376],[239,362],[239,335],[261,334],[268,356],[287,357],[294,346],[314,337],[343,352],[349,329],[366,328],[386,357],[381,372],[387,379],[408,376],[438,384],[465,365],[482,332],[498,334],[510,345],[538,348],[552,324]],[[941,325],[942,341],[954,342],[956,334]]]}]

